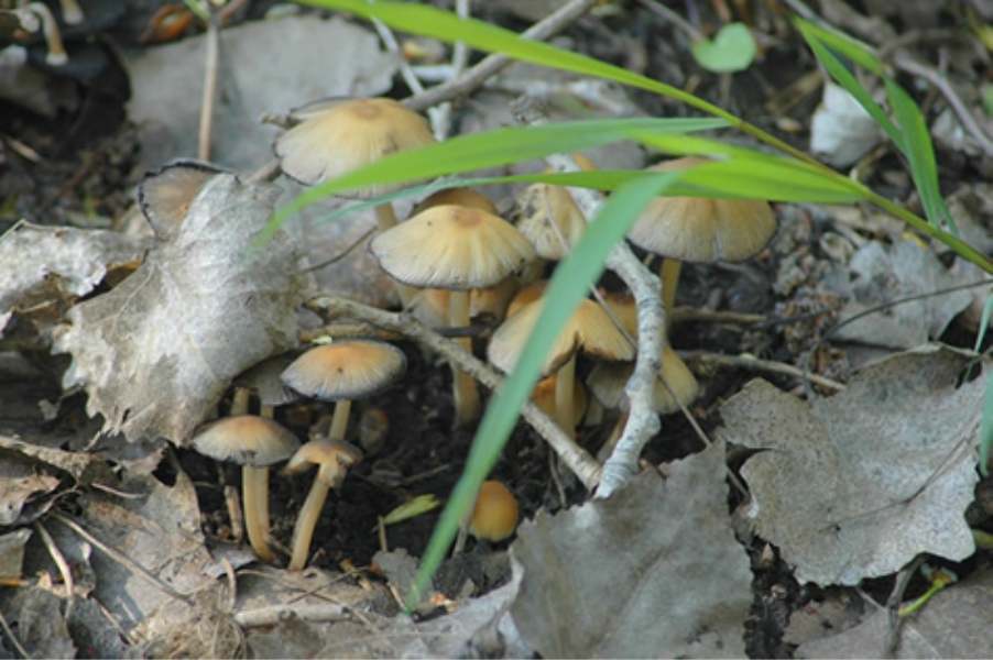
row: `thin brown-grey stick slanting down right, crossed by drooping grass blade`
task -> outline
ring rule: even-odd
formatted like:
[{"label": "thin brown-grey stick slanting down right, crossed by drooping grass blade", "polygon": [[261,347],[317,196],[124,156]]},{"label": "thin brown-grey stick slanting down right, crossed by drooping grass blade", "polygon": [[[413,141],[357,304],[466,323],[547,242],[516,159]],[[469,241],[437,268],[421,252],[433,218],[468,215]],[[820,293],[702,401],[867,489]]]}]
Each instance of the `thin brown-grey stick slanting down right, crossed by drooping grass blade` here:
[{"label": "thin brown-grey stick slanting down right, crossed by drooping grass blade", "polygon": [[[404,337],[438,353],[471,375],[490,389],[496,389],[503,377],[496,371],[449,339],[445,339],[422,322],[402,314],[383,311],[353,300],[319,296],[304,304],[304,307],[321,316],[325,320],[338,318],[357,319],[379,326],[385,330],[399,332]],[[534,402],[526,402],[521,408],[522,416],[552,446],[563,462],[576,473],[582,484],[592,490],[600,479],[600,464],[583,449],[576,444],[552,417],[546,415]]]}]

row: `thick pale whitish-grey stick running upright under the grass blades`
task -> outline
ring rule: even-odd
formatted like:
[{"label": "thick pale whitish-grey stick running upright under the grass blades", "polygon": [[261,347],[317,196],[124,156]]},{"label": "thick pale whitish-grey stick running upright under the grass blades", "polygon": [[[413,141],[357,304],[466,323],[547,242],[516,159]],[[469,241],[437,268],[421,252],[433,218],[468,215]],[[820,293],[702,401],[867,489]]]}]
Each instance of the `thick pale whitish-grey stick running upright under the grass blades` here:
[{"label": "thick pale whitish-grey stick running upright under the grass blades", "polygon": [[[527,125],[548,122],[547,112],[535,99],[525,97],[513,106],[514,117]],[[571,156],[552,154],[545,158],[556,172],[580,172]],[[588,219],[597,218],[603,198],[596,190],[568,188],[576,205]],[[662,344],[665,332],[665,309],[662,285],[651,271],[634,256],[626,243],[613,246],[607,256],[607,267],[624,280],[637,305],[637,358],[634,373],[624,387],[630,402],[630,418],[616,448],[603,465],[597,497],[610,497],[637,473],[637,460],[645,443],[662,429],[653,407],[655,378],[662,370]]]}]

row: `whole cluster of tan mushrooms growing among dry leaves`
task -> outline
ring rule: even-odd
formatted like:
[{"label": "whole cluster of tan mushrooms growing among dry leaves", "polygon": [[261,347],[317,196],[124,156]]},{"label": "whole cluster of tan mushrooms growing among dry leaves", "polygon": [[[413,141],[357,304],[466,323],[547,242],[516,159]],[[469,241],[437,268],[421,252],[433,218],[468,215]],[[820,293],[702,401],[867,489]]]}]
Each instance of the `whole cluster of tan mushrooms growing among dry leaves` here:
[{"label": "whole cluster of tan mushrooms growing among dry leaves", "polygon": [[[435,142],[421,116],[390,99],[324,101],[292,117],[297,123],[276,140],[274,151],[282,172],[307,186],[332,180],[391,153]],[[690,167],[699,161],[679,158],[650,169]],[[586,158],[577,156],[577,162],[586,169],[596,168]],[[352,190],[350,196],[374,199],[401,187]],[[390,204],[375,207],[380,231],[369,242],[380,266],[396,282],[404,308],[413,310],[425,324],[467,328],[481,315],[503,319],[485,352],[504,372],[513,369],[541,312],[547,262],[564,258],[588,221],[567,189],[545,184],[530,186],[516,200],[514,215],[516,226],[501,218],[484,195],[447,189],[422,200],[403,222],[397,221]],[[764,249],[775,230],[775,216],[764,201],[661,197],[639,217],[629,239],[664,257],[663,298],[672,309],[681,262],[749,258]],[[467,337],[457,341],[470,352],[481,349]],[[577,426],[593,408],[592,402],[601,410],[618,410],[620,420],[611,433],[615,441],[625,421],[624,384],[633,370],[636,341],[636,310],[629,294],[608,294],[605,306],[585,300],[543,363],[545,380],[535,388],[534,400],[574,438]],[[579,353],[596,361],[585,383],[577,378]],[[662,364],[655,407],[658,414],[667,414],[689,405],[698,394],[698,384],[668,342],[663,348]],[[299,570],[306,564],[314,525],[328,490],[337,487],[348,468],[362,459],[362,453],[346,442],[348,402],[389,386],[404,366],[404,354],[379,341],[318,345],[287,366],[282,382],[303,396],[338,402],[327,438],[298,447],[296,438],[272,421],[271,415],[245,415],[240,394],[236,394],[231,417],[214,422],[195,438],[200,452],[221,460],[239,459],[244,464],[247,529],[262,560],[274,561],[265,541],[268,465],[288,459],[284,469],[288,473],[318,466],[294,531],[290,568]],[[471,425],[481,410],[478,384],[455,365],[452,370],[456,420],[461,426]],[[610,440],[603,451],[609,451],[609,446]],[[495,512],[489,517],[488,507]],[[467,526],[471,522],[479,538],[499,540],[513,532],[516,520],[513,495],[502,484],[488,482]]]}]

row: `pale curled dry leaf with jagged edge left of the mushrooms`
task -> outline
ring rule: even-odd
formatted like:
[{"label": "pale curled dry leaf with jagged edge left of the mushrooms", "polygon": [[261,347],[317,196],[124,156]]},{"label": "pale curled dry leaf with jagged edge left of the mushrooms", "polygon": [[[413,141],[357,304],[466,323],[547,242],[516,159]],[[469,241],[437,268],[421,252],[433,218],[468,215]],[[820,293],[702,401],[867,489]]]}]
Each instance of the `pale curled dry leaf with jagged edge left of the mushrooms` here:
[{"label": "pale curled dry leaf with jagged edge left of the mushrooms", "polygon": [[73,355],[63,384],[86,388],[105,431],[184,443],[232,377],[296,344],[288,237],[250,253],[279,194],[218,175],[134,274],[69,310],[55,343]]}]

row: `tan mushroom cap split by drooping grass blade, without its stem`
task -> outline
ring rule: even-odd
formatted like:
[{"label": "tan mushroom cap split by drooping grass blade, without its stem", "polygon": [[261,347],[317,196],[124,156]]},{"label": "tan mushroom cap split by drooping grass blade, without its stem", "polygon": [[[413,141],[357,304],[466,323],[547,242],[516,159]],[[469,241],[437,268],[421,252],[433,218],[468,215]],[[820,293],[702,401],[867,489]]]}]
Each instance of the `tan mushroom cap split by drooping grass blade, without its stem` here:
[{"label": "tan mushroom cap split by drooping grass blade, without its stem", "polygon": [[[514,369],[544,305],[544,299],[525,305],[493,333],[487,356],[498,369],[503,372]],[[542,364],[542,374],[547,376],[558,371],[577,350],[600,360],[634,359],[634,348],[607,312],[589,298],[580,301],[555,338]]]}]

